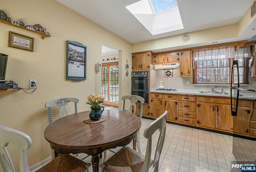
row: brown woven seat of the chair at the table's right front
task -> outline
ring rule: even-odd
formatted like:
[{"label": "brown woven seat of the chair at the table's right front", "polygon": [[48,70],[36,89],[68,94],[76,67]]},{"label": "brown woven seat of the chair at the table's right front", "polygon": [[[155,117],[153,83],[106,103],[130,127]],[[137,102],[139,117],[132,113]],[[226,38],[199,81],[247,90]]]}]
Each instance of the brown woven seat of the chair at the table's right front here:
[{"label": "brown woven seat of the chair at the table's right front", "polygon": [[[103,172],[141,172],[145,157],[132,148],[121,148],[104,164]],[[150,161],[152,166],[153,160]]]}]

